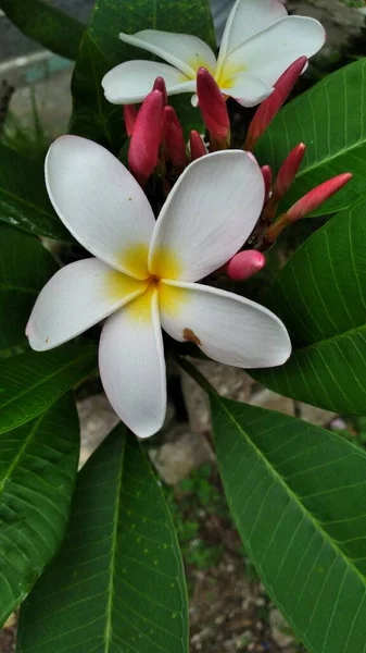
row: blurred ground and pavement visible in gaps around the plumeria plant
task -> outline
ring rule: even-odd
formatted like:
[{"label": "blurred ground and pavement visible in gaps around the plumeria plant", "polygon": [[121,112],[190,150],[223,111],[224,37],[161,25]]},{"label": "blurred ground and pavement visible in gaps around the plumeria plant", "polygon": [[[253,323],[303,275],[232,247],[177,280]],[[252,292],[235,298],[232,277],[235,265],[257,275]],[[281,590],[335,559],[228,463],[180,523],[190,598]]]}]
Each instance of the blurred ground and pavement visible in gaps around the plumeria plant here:
[{"label": "blurred ground and pavement visible in gaps around the plumeria plant", "polygon": [[[87,23],[94,1],[52,3]],[[211,0],[211,4],[219,40],[232,0]],[[298,93],[366,56],[364,1],[288,0],[286,4],[291,13],[318,19],[328,33],[326,47],[312,60]],[[73,63],[40,49],[1,11],[0,44],[0,138],[9,147],[36,157],[56,136],[67,133]],[[235,107],[231,110],[240,137],[241,114]],[[293,239],[304,238],[315,226],[313,220],[311,225],[307,222],[291,232],[270,264],[268,261],[269,271],[283,264],[295,245]],[[255,279],[256,285],[265,281]],[[198,365],[224,396],[302,417],[365,446],[366,418],[354,420],[280,397],[241,370],[212,361]],[[205,396],[174,368],[169,380],[172,401],[166,424],[149,441],[147,453],[164,483],[182,547],[190,593],[191,653],[304,653],[266,595],[231,522],[211,446]],[[80,393],[78,410],[83,465],[117,419],[98,385]],[[0,653],[15,651],[15,627],[16,614],[0,631]]]}]

